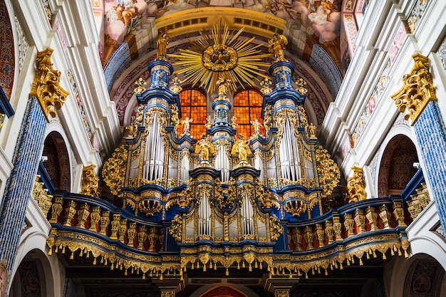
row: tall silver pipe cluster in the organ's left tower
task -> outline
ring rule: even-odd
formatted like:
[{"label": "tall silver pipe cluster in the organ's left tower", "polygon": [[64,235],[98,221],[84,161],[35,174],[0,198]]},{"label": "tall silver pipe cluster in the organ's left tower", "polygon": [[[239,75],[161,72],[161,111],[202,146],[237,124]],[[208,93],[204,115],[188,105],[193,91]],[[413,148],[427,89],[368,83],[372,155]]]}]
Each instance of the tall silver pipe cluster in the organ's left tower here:
[{"label": "tall silver pipe cluster in the organ's left tower", "polygon": [[147,135],[147,142],[145,143],[142,177],[147,180],[154,180],[162,177],[162,171],[164,169],[164,153],[165,147],[161,138],[160,125],[157,120],[157,115],[155,115]]}]

